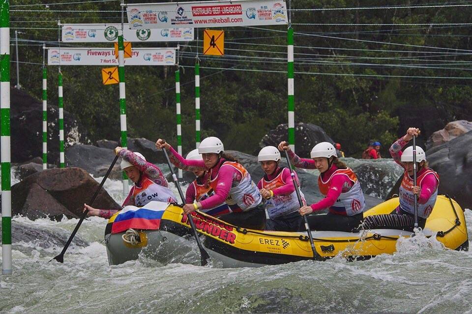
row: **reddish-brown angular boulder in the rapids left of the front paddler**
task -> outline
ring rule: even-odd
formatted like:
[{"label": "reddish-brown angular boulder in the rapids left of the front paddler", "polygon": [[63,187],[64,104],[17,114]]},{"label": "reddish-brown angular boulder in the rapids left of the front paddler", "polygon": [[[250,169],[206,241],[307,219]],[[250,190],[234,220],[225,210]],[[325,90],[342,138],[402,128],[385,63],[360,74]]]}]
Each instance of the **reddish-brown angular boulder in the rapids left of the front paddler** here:
[{"label": "reddish-brown angular boulder in the rapids left of the front paddler", "polygon": [[[36,219],[49,215],[78,218],[84,203],[90,202],[99,184],[80,168],[56,168],[30,175],[11,187],[12,213]],[[90,205],[90,204],[89,204]],[[103,188],[92,204],[95,208],[116,209],[119,205]]]}]

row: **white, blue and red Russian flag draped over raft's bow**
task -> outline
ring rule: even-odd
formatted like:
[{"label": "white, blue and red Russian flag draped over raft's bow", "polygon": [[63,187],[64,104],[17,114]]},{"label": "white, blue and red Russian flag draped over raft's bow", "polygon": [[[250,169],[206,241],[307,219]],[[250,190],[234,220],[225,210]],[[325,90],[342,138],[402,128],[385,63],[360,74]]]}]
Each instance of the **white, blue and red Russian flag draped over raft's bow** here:
[{"label": "white, blue and red Russian flag draped over raft's bow", "polygon": [[112,225],[112,234],[124,232],[129,228],[158,230],[161,218],[169,203],[149,202],[144,207],[126,206],[121,209]]}]

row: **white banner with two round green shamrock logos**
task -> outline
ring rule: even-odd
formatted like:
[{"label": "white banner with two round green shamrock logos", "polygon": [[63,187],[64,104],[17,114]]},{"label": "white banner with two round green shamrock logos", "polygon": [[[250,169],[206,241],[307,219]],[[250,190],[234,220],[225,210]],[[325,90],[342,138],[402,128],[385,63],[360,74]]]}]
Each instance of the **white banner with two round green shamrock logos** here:
[{"label": "white banner with two round green shamrock logos", "polygon": [[[107,43],[118,41],[121,24],[61,24],[62,41],[71,43]],[[130,42],[172,42],[194,40],[193,28],[130,29],[123,26],[123,37]]]}]

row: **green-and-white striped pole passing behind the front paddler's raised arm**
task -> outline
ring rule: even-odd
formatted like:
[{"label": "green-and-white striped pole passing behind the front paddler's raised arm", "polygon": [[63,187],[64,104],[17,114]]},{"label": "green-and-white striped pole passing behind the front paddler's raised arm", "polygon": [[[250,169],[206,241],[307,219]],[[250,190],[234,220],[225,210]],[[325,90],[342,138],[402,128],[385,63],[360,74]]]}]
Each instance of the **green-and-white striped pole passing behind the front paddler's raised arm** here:
[{"label": "green-and-white striped pole passing behind the front paddler's raised arm", "polygon": [[[119,78],[119,121],[121,130],[121,147],[128,148],[128,132],[126,129],[126,89],[124,80],[124,41],[123,32],[118,36],[118,78]],[[128,195],[128,177],[123,171],[123,195]]]}]

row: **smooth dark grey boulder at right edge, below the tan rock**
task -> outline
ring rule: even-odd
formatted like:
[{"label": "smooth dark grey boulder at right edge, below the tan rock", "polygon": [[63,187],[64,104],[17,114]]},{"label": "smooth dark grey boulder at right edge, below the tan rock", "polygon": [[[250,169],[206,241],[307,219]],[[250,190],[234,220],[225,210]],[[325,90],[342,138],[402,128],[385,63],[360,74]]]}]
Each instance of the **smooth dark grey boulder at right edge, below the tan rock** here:
[{"label": "smooth dark grey boulder at right edge, below the tan rock", "polygon": [[426,158],[440,176],[439,192],[472,209],[472,131],[433,147]]}]

